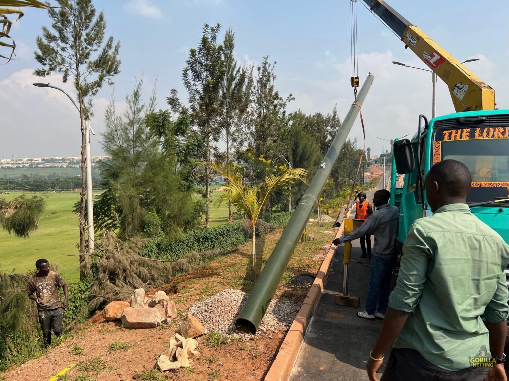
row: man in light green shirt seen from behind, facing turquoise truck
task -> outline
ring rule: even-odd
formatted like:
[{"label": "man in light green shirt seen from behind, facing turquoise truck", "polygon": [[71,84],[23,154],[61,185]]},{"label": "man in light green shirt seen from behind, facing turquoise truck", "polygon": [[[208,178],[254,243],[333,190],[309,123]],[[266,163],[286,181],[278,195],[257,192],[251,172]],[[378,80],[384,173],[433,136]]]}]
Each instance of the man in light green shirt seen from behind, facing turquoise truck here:
[{"label": "man in light green shirt seen from behind, facing turquoise truck", "polygon": [[483,380],[487,373],[487,379],[506,380],[509,246],[465,205],[470,183],[468,168],[455,160],[434,165],[426,177],[434,215],[417,219],[408,231],[398,282],[367,363],[372,381],[391,346],[382,381]]}]

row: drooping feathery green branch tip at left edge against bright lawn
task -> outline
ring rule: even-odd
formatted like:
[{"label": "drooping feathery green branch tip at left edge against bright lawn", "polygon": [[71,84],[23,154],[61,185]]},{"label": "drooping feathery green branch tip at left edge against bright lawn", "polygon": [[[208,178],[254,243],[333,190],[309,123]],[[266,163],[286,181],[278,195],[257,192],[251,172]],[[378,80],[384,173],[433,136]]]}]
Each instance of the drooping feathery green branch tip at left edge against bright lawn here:
[{"label": "drooping feathery green branch tip at left edge against bright lawn", "polygon": [[44,199],[37,196],[20,196],[10,202],[0,199],[0,228],[17,237],[29,237],[39,227],[44,204]]}]

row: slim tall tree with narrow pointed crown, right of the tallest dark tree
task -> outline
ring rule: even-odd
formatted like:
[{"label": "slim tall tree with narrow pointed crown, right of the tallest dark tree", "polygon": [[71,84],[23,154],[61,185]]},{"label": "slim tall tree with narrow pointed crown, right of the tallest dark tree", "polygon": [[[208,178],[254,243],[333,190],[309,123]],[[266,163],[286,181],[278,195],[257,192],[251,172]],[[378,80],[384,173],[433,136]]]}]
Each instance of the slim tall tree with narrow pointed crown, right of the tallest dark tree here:
[{"label": "slim tall tree with narrow pointed crown, right of the tallest dark tree", "polygon": [[[225,160],[232,160],[232,149],[242,142],[240,123],[249,106],[252,70],[237,67],[234,56],[235,34],[228,28],[223,41],[224,78],[221,86],[221,139],[226,145]],[[229,168],[229,167],[228,167]],[[228,200],[228,223],[232,223],[232,202]]]}]

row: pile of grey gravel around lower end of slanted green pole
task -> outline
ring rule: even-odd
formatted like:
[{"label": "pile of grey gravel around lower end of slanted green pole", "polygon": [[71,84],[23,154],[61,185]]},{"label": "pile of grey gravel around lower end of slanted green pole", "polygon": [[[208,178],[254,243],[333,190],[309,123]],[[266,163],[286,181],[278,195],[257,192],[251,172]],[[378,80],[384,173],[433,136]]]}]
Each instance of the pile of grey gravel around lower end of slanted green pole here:
[{"label": "pile of grey gravel around lower end of slanted green pole", "polygon": [[[207,332],[214,331],[230,335],[234,329],[235,317],[247,297],[248,294],[240,290],[223,290],[203,302],[192,305],[189,312],[203,324]],[[258,332],[286,331],[292,324],[299,307],[288,300],[273,299]]]}]

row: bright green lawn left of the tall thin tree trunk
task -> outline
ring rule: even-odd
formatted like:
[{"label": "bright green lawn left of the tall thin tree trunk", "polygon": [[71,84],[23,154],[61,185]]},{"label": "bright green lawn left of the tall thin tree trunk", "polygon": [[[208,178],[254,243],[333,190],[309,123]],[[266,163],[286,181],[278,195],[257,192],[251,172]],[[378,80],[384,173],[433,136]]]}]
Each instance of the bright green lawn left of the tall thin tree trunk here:
[{"label": "bright green lawn left of the tall thin tree trunk", "polygon": [[[22,192],[0,195],[10,201]],[[0,231],[0,264],[2,271],[26,272],[35,270],[35,262],[40,258],[58,269],[66,282],[79,280],[76,245],[79,241],[78,219],[73,214],[73,206],[79,201],[78,192],[38,193],[45,197],[46,209],[39,229],[30,238],[18,238]],[[26,194],[31,197],[32,194]]]}]

